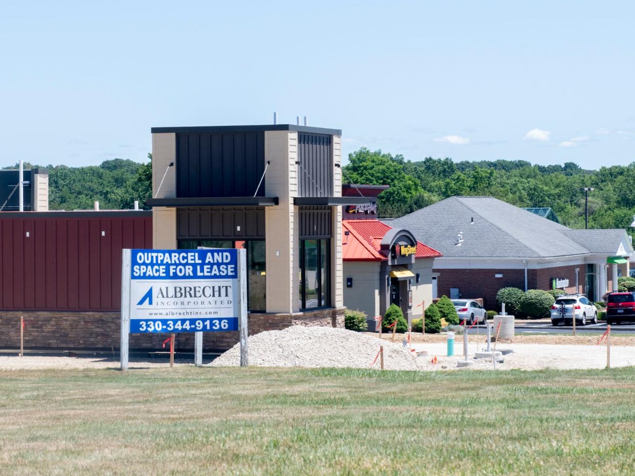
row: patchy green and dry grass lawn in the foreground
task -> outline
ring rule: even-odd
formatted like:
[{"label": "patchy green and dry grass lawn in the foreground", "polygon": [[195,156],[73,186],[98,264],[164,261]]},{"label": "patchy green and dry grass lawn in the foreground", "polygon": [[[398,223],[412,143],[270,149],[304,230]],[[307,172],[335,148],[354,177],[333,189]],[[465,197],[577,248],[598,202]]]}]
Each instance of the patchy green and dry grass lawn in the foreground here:
[{"label": "patchy green and dry grass lawn in the foreground", "polygon": [[0,372],[0,473],[635,472],[635,368]]}]

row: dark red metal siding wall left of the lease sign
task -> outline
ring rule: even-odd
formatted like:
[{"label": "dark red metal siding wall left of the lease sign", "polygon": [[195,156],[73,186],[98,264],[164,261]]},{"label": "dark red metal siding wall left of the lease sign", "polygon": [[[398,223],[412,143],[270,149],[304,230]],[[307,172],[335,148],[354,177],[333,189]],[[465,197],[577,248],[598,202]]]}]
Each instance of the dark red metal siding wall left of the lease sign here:
[{"label": "dark red metal siding wall left of the lease sign", "polygon": [[118,311],[121,249],[152,248],[152,218],[3,218],[0,248],[1,310]]}]

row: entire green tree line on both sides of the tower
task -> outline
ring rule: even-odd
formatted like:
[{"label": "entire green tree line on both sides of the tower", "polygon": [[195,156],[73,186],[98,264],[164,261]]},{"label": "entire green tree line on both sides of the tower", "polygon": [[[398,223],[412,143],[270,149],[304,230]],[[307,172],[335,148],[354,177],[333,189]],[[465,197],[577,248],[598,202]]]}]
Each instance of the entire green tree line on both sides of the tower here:
[{"label": "entire green tree line on both sides of the tower", "polygon": [[[151,154],[148,154],[151,158]],[[25,164],[25,168],[37,165]],[[11,166],[10,168],[17,168]],[[152,194],[152,166],[129,159],[98,166],[48,166],[51,209],[130,209]],[[361,148],[349,154],[344,182],[390,185],[379,195],[380,218],[406,215],[452,195],[491,195],[519,207],[551,207],[564,225],[584,228],[584,192],[589,228],[628,228],[635,215],[635,162],[585,170],[573,162],[536,165],[527,161],[406,161],[403,155]]]}]

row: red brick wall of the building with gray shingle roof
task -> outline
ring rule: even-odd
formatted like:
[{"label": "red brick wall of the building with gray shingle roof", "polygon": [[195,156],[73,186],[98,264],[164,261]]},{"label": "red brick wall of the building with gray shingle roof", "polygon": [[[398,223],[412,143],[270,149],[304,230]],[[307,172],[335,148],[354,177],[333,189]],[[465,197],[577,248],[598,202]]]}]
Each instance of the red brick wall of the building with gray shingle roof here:
[{"label": "red brick wall of the building with gray shingle roof", "polygon": [[[575,289],[575,268],[580,268],[580,290]],[[584,293],[585,265],[561,266],[555,268],[529,269],[527,270],[528,289],[551,289],[552,278],[566,278],[570,286],[565,289],[567,293]],[[497,310],[496,293],[501,288],[525,289],[524,269],[435,269],[439,273],[437,279],[438,295],[444,294],[450,297],[450,288],[458,288],[462,298],[483,298],[483,305],[488,310]],[[608,274],[608,289],[611,289],[611,270]],[[502,274],[502,278],[494,277]]]}]

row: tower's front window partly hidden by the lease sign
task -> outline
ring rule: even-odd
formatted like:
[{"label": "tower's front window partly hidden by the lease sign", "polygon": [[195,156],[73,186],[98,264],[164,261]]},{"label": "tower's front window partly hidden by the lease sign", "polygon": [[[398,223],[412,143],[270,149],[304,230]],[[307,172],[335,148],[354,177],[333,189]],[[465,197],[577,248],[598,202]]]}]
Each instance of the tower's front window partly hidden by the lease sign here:
[{"label": "tower's front window partly hidden by the lease sign", "polygon": [[179,249],[205,248],[242,248],[247,250],[247,308],[252,312],[265,312],[267,309],[267,263],[265,260],[265,242],[262,240],[179,240]]}]

